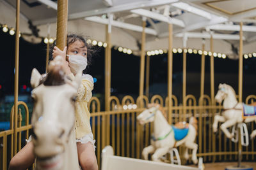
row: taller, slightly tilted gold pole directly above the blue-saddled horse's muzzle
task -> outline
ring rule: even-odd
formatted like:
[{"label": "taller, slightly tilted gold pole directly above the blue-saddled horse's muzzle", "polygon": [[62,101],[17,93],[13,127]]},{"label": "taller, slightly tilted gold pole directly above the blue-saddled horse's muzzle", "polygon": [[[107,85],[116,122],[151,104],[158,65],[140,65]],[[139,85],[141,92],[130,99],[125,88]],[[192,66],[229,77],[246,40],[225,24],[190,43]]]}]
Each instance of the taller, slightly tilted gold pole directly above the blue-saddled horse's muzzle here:
[{"label": "taller, slightly tilted gold pole directly above the blue-saddled horse's muzzle", "polygon": [[140,55],[140,107],[143,107],[143,89],[144,89],[144,69],[145,69],[145,27],[146,20],[143,18],[143,31],[141,36],[141,55]]}]

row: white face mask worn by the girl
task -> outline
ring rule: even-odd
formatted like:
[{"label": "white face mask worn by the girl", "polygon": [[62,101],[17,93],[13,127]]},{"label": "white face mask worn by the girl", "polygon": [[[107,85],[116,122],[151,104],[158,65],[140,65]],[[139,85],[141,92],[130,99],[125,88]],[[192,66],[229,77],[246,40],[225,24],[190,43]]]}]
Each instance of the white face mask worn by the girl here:
[{"label": "white face mask worn by the girl", "polygon": [[79,70],[84,70],[87,66],[87,58],[82,55],[67,55],[70,71],[76,74]]}]

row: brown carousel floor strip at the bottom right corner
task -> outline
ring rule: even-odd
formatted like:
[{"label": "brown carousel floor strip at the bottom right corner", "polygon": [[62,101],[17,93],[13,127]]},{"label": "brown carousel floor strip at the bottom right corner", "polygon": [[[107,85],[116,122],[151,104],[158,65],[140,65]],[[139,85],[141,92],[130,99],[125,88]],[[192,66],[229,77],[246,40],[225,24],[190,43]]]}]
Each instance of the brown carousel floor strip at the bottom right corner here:
[{"label": "brown carousel floor strip at the bottom right corner", "polygon": [[[253,170],[256,170],[256,162],[243,162],[241,165],[252,166]],[[225,170],[225,167],[227,166],[237,166],[237,162],[216,162],[204,164],[205,170]]]}]

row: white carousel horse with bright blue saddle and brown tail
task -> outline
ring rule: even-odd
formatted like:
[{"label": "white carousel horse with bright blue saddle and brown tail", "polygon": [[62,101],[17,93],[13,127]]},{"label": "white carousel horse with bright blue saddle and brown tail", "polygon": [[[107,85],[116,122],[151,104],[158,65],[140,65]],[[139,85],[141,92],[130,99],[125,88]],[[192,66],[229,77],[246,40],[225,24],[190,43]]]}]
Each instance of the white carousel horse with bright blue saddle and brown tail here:
[{"label": "white carousel horse with bright blue saddle and brown tail", "polygon": [[194,142],[196,139],[195,127],[197,126],[197,120],[191,117],[189,124],[179,122],[176,127],[168,124],[163,113],[159,104],[151,104],[147,110],[144,110],[137,117],[141,125],[154,122],[154,132],[150,139],[150,145],[143,148],[142,151],[144,159],[148,160],[148,154],[154,153],[152,160],[159,161],[159,158],[166,155],[172,148],[184,145],[186,147],[185,159],[189,159],[188,149],[192,149],[192,160],[194,164],[197,164],[196,152],[198,146]]}]

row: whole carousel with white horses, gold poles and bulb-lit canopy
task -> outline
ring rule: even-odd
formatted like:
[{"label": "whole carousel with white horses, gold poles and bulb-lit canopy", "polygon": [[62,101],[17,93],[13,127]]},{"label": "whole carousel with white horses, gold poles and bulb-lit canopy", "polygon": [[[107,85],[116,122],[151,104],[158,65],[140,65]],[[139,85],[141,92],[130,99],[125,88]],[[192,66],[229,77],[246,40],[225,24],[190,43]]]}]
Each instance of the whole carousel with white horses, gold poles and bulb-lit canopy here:
[{"label": "whole carousel with white horses, gold poles and bulb-lit canopy", "polygon": [[[95,96],[88,102],[100,169],[256,169],[256,96],[243,96],[243,89],[249,88],[243,81],[243,61],[256,57],[256,1],[3,0],[0,1],[0,26],[3,32],[15,34],[14,105],[10,112],[10,129],[0,132],[1,169],[8,169],[10,160],[31,134],[34,140],[35,134],[37,136],[36,157],[44,158],[36,159],[31,168],[44,169],[36,166],[41,160],[53,162],[62,155],[62,163],[52,169],[80,169],[74,122],[70,121],[74,120],[74,114],[70,114],[74,112],[74,103],[56,96],[76,94],[81,76],[77,74],[74,80],[65,80],[59,86],[46,88],[42,83],[45,75],[58,68],[61,70],[60,57],[49,62],[49,46],[56,39],[56,46],[62,50],[67,44],[67,32],[89,35],[87,43],[105,49],[104,102]],[[22,74],[19,73],[20,36],[31,43],[44,39],[47,44],[46,63],[42,63],[46,74],[36,68],[31,73],[31,94],[40,96],[33,103],[32,118],[29,118],[27,104],[18,101],[19,74]],[[140,59],[137,98],[124,96],[120,99],[111,95],[113,49]],[[173,86],[175,53],[182,56],[180,97],[173,95],[176,90]],[[187,60],[192,54],[201,57],[199,97],[187,92],[187,66],[190,64]],[[164,97],[150,96],[150,57],[157,55],[167,55]],[[237,89],[228,85],[225,77],[222,83],[216,84],[214,68],[219,67],[214,64],[216,59],[237,62]],[[207,66],[209,74],[205,72]],[[205,86],[206,80],[210,82],[209,87]],[[61,117],[66,118],[61,122],[64,135],[61,134],[59,143],[65,146],[61,152],[57,151],[56,143],[47,140],[52,127],[60,124],[57,106],[61,104],[52,106],[45,102],[47,99],[67,103],[61,110]],[[21,113],[20,108],[25,113]],[[53,110],[57,110],[56,115]],[[39,126],[42,117],[47,125]],[[47,146],[36,143],[47,143]]]}]

